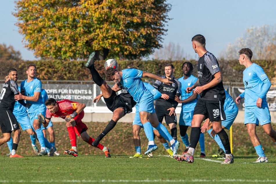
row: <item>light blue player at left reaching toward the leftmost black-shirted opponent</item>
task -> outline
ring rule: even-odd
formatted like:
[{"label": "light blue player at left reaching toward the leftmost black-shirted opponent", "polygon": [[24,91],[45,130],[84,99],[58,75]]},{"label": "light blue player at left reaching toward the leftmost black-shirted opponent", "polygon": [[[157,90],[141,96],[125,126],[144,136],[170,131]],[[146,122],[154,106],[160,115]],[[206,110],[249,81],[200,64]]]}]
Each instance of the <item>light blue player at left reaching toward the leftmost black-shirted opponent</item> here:
[{"label": "light blue player at left reaching toward the leftmost black-shirted opponent", "polygon": [[43,132],[41,130],[41,123],[39,123],[37,120],[37,115],[39,113],[45,115],[46,107],[42,101],[42,96],[40,95],[42,83],[35,77],[36,71],[37,68],[35,64],[28,65],[26,71],[28,78],[21,82],[21,93],[19,93],[19,95],[15,95],[15,100],[26,100],[27,103],[31,104],[31,106],[28,108],[28,116],[41,146],[38,155],[47,155],[47,147],[50,149],[49,156],[54,156],[55,147],[53,147],[50,142],[44,138]]}]

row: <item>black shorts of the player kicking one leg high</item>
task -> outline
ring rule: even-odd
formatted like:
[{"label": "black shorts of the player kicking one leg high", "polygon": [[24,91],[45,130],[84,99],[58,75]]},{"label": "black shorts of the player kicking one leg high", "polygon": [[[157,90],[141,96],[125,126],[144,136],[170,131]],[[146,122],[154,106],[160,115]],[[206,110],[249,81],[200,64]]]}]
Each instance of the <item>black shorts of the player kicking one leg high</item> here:
[{"label": "black shorts of the player kicking one leg high", "polygon": [[116,92],[112,90],[112,94],[109,98],[104,98],[104,102],[107,105],[107,108],[111,110],[112,112],[115,109],[122,108],[124,109],[124,116],[127,113],[127,105],[125,104],[125,101],[118,97]]}]

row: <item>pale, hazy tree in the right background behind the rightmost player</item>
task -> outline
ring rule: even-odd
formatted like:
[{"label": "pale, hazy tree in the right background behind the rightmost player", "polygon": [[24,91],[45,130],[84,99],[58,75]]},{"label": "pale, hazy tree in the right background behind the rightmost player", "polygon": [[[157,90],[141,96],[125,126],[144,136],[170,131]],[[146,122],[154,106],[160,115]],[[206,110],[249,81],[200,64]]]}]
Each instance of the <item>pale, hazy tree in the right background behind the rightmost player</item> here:
[{"label": "pale, hazy tree in the right background behind the rightmost player", "polygon": [[237,59],[238,51],[241,48],[250,48],[253,52],[253,59],[276,59],[276,25],[263,25],[252,27],[237,40],[228,44],[219,57],[225,59]]}]

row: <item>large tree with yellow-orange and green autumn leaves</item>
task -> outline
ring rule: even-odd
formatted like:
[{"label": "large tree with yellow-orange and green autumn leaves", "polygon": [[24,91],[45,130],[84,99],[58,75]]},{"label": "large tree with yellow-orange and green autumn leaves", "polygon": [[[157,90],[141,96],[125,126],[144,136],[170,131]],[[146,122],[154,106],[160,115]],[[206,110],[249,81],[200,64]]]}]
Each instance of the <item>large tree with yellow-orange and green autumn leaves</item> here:
[{"label": "large tree with yellow-orange and green autumn leaves", "polygon": [[[166,0],[20,0],[16,25],[37,57],[146,57],[167,31]],[[102,58],[100,58],[102,56]]]}]

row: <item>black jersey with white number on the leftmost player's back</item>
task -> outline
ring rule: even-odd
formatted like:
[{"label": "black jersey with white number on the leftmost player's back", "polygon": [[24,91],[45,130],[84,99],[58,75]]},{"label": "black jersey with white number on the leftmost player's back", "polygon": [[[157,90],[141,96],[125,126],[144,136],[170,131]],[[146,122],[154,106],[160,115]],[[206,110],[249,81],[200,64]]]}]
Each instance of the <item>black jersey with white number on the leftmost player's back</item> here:
[{"label": "black jersey with white number on the leftmost player's back", "polygon": [[13,80],[8,80],[2,88],[0,95],[0,108],[12,110],[15,106],[15,95],[18,95],[18,85]]}]

